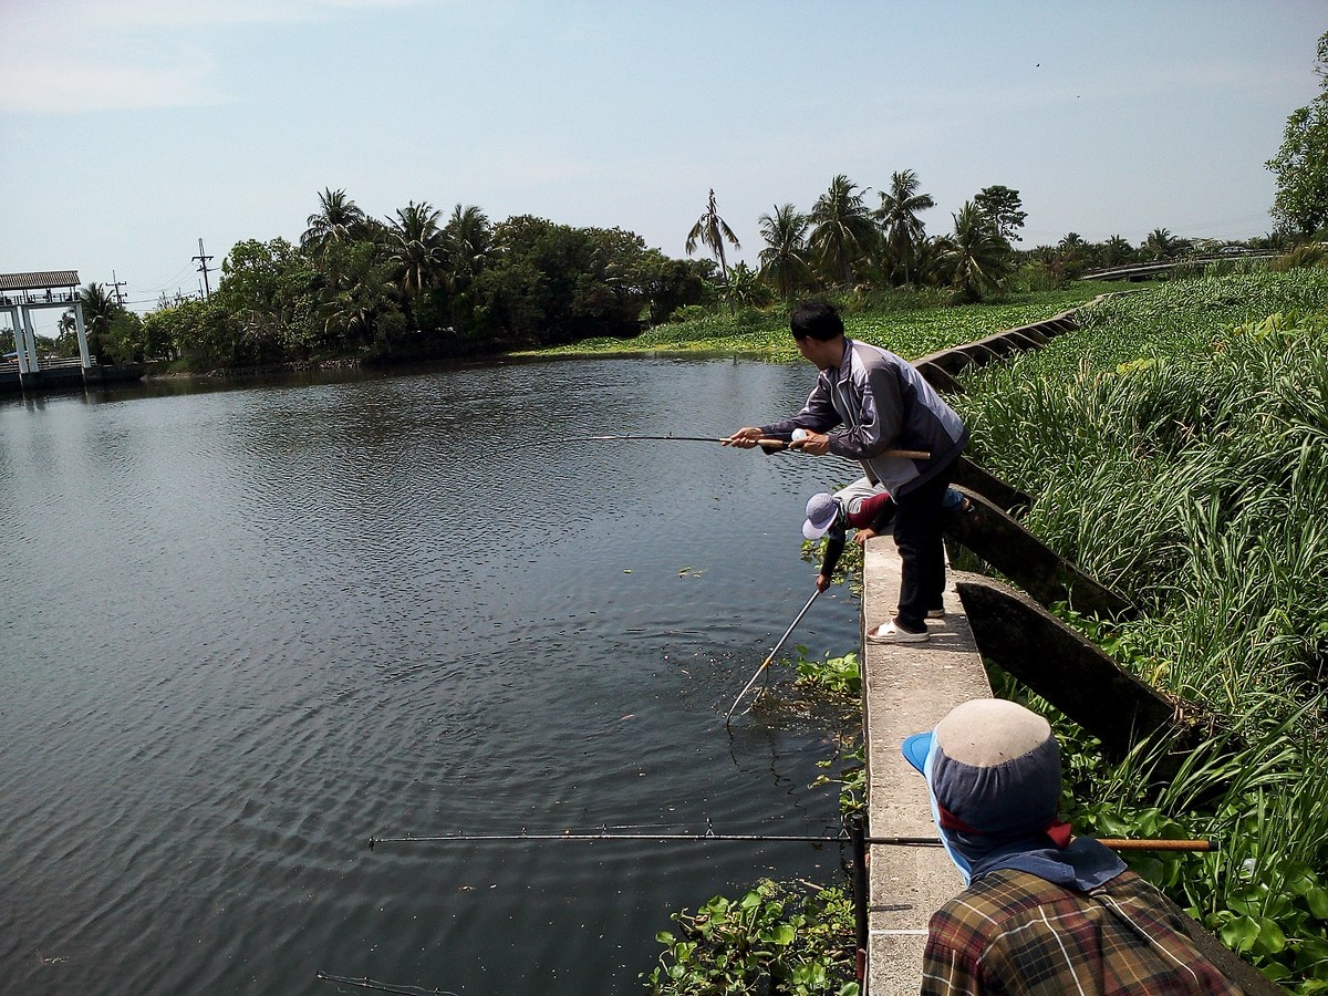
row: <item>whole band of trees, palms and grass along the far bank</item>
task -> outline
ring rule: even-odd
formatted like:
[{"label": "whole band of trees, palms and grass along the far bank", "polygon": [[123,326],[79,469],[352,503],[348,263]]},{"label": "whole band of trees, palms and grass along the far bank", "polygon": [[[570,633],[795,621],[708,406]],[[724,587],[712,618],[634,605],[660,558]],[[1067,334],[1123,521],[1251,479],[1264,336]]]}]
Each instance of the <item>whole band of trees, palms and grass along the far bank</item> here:
[{"label": "whole band of trees, palms and grass along the far bank", "polygon": [[[458,203],[445,216],[414,201],[380,220],[344,190],[324,190],[297,244],[236,243],[205,297],[163,297],[145,316],[102,284],[80,297],[90,352],[102,363],[153,360],[173,372],[558,349],[778,356],[788,351],[778,335],[784,315],[798,299],[830,297],[863,316],[951,311],[948,323],[932,321],[965,329],[988,313],[983,328],[999,331],[1024,315],[969,308],[1078,303],[1092,295],[1077,278],[1093,267],[1173,260],[1218,244],[1159,228],[1138,247],[1069,232],[1056,246],[1019,250],[1020,205],[1019,191],[985,187],[952,215],[951,232],[927,235],[919,212],[932,199],[916,174],[894,174],[876,207],[838,175],[807,211],[784,205],[761,218],[765,247],[749,267],[725,255],[736,239],[713,191],[687,248],[714,258],[672,259],[622,228],[531,215],[494,223],[475,206]],[[1275,239],[1244,248],[1256,242]],[[1045,317],[1035,311],[1028,315]],[[922,348],[952,341],[938,333]],[[72,313],[41,348],[77,355]]]}]

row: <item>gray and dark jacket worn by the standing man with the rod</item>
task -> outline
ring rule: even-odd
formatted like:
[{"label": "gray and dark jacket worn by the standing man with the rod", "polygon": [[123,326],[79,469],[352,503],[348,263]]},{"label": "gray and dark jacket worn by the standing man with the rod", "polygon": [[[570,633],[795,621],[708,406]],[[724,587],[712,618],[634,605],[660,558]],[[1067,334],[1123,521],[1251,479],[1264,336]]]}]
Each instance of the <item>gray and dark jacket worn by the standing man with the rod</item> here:
[{"label": "gray and dark jacket worn by the standing man with the rod", "polygon": [[[845,337],[839,367],[821,371],[793,418],[762,425],[768,434],[810,429],[830,433],[830,452],[862,463],[895,498],[948,467],[968,442],[968,428],[918,369],[888,349]],[[878,456],[887,449],[926,450],[931,459]]]}]

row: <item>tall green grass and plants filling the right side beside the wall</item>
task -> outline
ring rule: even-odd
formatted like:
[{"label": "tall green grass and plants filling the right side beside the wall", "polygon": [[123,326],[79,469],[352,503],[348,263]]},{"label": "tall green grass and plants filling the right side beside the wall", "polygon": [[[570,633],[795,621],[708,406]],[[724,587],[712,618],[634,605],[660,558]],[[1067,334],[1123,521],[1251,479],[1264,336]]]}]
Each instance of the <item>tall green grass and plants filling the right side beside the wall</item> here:
[{"label": "tall green grass and plants filling the right side beside the wall", "polygon": [[959,402],[977,459],[1036,497],[1028,526],[1143,608],[1092,633],[1228,724],[1161,790],[1141,777],[1158,748],[1110,766],[1072,733],[1081,814],[1222,838],[1147,870],[1303,992],[1328,991],[1325,309],[1325,271],[1159,286],[975,372]]}]

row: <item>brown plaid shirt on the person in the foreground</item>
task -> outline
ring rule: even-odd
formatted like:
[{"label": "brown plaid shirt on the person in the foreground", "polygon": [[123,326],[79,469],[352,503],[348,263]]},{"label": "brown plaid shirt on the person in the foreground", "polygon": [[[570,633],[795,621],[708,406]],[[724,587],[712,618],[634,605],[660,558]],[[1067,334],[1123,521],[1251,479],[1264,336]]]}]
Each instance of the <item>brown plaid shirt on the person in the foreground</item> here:
[{"label": "brown plaid shirt on the person in the foreground", "polygon": [[932,915],[923,996],[1242,992],[1158,899],[1133,871],[1090,892],[992,871]]}]

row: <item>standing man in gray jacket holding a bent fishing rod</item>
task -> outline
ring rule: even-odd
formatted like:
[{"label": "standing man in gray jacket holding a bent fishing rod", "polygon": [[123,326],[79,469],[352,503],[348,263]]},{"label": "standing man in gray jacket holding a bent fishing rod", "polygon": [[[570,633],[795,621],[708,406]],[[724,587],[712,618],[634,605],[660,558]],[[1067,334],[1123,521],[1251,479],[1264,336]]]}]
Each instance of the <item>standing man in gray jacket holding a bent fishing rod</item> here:
[{"label": "standing man in gray jacket holding a bent fishing rod", "polygon": [[[926,640],[927,615],[943,606],[946,591],[942,501],[968,442],[968,429],[912,364],[845,336],[843,320],[833,305],[802,304],[790,325],[798,352],[819,371],[806,404],[791,418],[744,426],[722,442],[750,449],[758,440],[790,438],[801,429],[791,448],[859,461],[867,482],[882,485],[894,498],[902,562],[899,607],[890,622],[867,631],[867,640]],[[887,456],[891,449],[920,450],[930,457]]]}]

